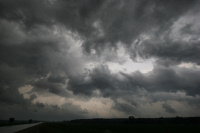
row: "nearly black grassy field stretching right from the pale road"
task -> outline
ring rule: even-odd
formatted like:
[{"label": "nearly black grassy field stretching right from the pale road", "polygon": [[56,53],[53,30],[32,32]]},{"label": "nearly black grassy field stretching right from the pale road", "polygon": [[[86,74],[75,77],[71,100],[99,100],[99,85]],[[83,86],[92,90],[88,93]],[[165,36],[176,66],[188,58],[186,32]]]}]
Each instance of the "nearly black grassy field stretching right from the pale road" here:
[{"label": "nearly black grassy field stretching right from the pale road", "polygon": [[[30,133],[26,129],[20,133]],[[34,129],[39,133],[196,133],[200,125],[147,125],[147,124],[72,124],[43,123]]]}]

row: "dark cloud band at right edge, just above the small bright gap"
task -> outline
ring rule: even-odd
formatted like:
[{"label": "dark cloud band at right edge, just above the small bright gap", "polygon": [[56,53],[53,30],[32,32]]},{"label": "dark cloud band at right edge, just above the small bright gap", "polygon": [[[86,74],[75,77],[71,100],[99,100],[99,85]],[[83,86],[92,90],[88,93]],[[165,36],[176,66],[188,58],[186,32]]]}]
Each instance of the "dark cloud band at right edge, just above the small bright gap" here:
[{"label": "dark cloud band at right edge, just above the small bright gap", "polygon": [[[156,41],[144,41],[136,49],[136,53],[143,58],[156,57],[165,63],[179,64],[181,62],[193,62],[199,64],[199,41],[194,43],[172,42],[155,37]],[[153,40],[153,39],[152,39]],[[135,58],[135,57],[133,57]],[[171,60],[171,62],[169,62]]]}]

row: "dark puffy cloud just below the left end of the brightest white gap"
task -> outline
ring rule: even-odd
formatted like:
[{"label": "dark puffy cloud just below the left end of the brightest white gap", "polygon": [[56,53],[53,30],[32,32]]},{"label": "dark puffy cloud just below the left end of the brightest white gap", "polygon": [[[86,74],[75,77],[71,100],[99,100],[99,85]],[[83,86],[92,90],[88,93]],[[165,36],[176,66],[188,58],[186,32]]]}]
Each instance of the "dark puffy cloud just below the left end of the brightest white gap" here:
[{"label": "dark puffy cloud just below the left end of the brightest white gap", "polygon": [[[89,76],[91,80],[84,81],[85,76]],[[111,75],[110,70],[106,65],[95,68],[92,72],[82,77],[71,78],[69,85],[74,93],[83,93],[91,95],[95,89],[107,90],[114,87],[116,79]]]}]

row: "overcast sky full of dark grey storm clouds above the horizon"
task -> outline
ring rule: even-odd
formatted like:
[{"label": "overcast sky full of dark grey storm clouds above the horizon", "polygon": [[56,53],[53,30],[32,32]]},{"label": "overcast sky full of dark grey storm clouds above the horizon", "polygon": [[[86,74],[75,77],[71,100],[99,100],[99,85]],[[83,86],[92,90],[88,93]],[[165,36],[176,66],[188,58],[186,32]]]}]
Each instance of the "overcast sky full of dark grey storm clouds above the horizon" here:
[{"label": "overcast sky full of dark grey storm clouds above the horizon", "polygon": [[0,119],[199,110],[200,1],[0,0]]}]

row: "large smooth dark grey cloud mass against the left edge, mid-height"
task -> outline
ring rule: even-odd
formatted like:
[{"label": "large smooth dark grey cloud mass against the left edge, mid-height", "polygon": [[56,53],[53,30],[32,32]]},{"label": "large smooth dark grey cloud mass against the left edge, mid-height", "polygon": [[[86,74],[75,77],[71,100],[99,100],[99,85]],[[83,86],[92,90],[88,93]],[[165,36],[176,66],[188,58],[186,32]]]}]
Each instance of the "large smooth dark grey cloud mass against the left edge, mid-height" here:
[{"label": "large smooth dark grey cloud mass against the left edge, mid-height", "polygon": [[[35,31],[27,33],[16,22],[2,20],[1,24],[3,26],[0,29],[1,35],[4,35],[1,36],[4,39],[0,41],[1,88],[5,88],[6,91],[13,88],[8,92],[17,95],[18,87],[27,84],[31,79],[45,76],[53,69],[51,67],[53,64],[48,64],[49,52],[56,53],[55,43],[58,41],[51,40],[52,38],[50,39],[48,36],[43,39],[41,37],[42,30],[38,31],[37,28]],[[37,35],[34,35],[34,32]],[[48,31],[43,32],[49,34]],[[3,93],[1,94],[7,97]],[[16,96],[16,98],[18,97]]]}]

